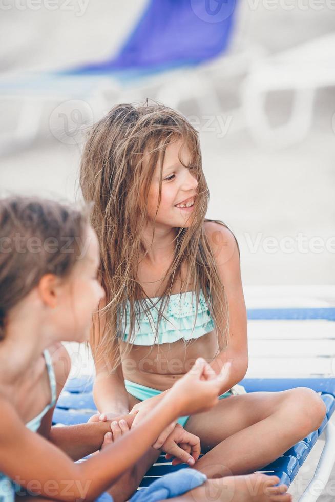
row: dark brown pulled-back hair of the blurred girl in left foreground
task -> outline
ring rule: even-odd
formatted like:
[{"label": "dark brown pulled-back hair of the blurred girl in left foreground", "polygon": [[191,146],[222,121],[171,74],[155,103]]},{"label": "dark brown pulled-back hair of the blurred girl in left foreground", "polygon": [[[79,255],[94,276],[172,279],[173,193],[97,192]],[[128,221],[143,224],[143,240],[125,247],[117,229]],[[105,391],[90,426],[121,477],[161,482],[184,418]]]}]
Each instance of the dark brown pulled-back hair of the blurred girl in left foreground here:
[{"label": "dark brown pulled-back hair of the blurred girl in left foreground", "polygon": [[71,272],[89,211],[89,206],[81,212],[37,197],[0,199],[0,340],[9,311],[43,275],[66,277]]}]

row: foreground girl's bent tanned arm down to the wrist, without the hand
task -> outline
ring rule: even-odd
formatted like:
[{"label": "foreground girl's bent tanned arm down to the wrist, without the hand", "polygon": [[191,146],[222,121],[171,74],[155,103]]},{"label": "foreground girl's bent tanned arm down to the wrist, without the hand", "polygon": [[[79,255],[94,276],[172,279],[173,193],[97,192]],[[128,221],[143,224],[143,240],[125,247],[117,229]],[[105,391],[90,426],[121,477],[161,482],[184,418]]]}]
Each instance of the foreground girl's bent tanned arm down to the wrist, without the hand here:
[{"label": "foreground girl's bent tanned arm down to the wrist, without the hand", "polygon": [[147,420],[86,462],[27,429],[14,408],[1,400],[0,471],[36,495],[56,500],[95,500],[132,466],[175,416],[176,403],[157,406]]}]

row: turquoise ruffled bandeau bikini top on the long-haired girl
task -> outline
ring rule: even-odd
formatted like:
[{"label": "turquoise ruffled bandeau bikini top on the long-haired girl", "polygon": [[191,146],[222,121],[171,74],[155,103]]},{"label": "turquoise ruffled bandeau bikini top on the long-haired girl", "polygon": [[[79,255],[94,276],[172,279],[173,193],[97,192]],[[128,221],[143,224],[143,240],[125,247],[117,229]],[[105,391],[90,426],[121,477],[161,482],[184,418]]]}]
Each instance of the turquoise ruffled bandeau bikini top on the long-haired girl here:
[{"label": "turquoise ruffled bandeau bikini top on the long-haired girl", "polygon": [[[134,345],[172,343],[180,339],[191,340],[202,337],[214,329],[214,322],[202,290],[200,290],[197,310],[196,296],[193,291],[170,295],[157,335],[158,312],[162,299],[156,297],[150,300],[154,305],[148,306],[146,311],[143,311],[139,301],[135,300],[136,320],[134,333],[130,339],[130,343]],[[124,342],[128,341],[129,336],[129,311],[130,303],[127,301],[125,316],[121,319],[118,329],[119,336],[125,333],[122,338]]]}]

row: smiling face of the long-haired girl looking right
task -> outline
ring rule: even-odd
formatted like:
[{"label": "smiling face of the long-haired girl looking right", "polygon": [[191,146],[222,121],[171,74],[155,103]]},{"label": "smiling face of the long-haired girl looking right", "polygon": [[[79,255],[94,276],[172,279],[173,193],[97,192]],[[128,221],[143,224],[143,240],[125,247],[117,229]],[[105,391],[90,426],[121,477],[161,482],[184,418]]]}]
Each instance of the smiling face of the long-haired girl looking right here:
[{"label": "smiling face of the long-haired girl looking right", "polygon": [[[179,158],[182,160],[180,162]],[[165,151],[161,200],[159,200],[160,168],[156,166],[148,195],[148,217],[156,225],[186,228],[191,225],[198,181],[195,173],[184,165],[191,164],[191,153],[182,139]],[[157,214],[156,214],[157,213]]]}]

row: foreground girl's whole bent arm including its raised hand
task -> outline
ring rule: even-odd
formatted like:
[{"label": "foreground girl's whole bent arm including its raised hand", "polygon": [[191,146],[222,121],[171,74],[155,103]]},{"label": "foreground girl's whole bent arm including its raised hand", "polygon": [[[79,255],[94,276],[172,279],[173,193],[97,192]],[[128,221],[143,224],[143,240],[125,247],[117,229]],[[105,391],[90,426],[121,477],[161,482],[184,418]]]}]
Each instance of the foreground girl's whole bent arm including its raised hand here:
[{"label": "foreground girl's whole bent arm including its raised hand", "polygon": [[13,406],[0,398],[0,471],[36,495],[94,500],[134,465],[176,416],[187,409],[193,413],[211,409],[217,403],[218,388],[219,378],[203,360],[197,360],[146,419],[99,455],[79,464],[25,427]]}]

